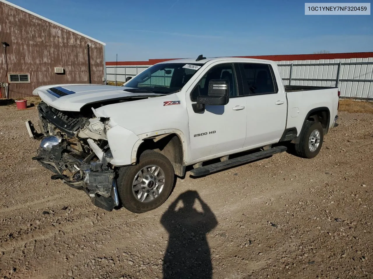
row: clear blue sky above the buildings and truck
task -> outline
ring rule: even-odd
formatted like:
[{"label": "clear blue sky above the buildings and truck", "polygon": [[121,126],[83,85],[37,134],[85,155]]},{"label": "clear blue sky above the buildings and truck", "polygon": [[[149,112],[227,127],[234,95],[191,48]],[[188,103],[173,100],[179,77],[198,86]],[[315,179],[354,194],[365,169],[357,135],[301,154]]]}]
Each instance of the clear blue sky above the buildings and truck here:
[{"label": "clear blue sky above the buildings and truck", "polygon": [[304,1],[10,2],[105,42],[106,61],[373,51],[372,15],[305,16]]}]

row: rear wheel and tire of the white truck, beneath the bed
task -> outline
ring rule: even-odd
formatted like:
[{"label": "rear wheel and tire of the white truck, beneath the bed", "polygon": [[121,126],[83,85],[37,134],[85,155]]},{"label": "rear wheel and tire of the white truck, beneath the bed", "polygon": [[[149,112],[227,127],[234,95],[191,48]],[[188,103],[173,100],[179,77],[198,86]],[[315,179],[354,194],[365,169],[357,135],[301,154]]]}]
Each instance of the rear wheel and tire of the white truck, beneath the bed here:
[{"label": "rear wheel and tire of the white truck, beneath the bed", "polygon": [[[320,122],[306,121],[295,144],[295,153],[302,158],[314,158],[323,145],[324,130]],[[311,144],[311,147],[310,147]]]}]

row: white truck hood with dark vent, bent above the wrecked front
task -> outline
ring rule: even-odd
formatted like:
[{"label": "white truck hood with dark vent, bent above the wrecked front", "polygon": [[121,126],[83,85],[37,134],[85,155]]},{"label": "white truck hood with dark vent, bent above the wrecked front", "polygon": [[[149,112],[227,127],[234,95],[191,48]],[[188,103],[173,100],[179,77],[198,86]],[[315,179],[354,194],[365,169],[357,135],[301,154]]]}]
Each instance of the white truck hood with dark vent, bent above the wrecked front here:
[{"label": "white truck hood with dark vent, bent above the wrecked front", "polygon": [[32,94],[39,96],[53,108],[64,111],[80,111],[88,104],[109,100],[125,100],[141,97],[157,97],[163,94],[131,93],[130,87],[100,84],[55,84],[40,86]]}]

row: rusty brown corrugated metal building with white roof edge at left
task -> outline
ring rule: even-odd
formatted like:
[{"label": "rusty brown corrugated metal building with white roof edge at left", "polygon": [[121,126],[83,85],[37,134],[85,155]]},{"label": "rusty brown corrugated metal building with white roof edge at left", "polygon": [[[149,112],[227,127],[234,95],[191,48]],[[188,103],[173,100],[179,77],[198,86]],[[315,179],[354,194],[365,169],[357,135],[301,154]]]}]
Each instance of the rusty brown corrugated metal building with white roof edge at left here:
[{"label": "rusty brown corrugated metal building with white roof edge at left", "polygon": [[26,97],[41,85],[102,84],[106,77],[103,42],[4,0],[0,41],[3,98],[6,89],[9,98]]}]

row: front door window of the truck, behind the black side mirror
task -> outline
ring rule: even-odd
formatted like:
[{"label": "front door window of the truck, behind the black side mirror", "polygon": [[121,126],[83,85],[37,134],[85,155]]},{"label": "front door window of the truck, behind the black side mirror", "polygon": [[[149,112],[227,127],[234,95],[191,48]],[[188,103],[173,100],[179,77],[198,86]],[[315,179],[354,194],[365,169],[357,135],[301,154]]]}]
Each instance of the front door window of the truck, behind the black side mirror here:
[{"label": "front door window of the truck, behind the black side mirror", "polygon": [[198,96],[207,96],[210,80],[223,79],[228,82],[229,97],[237,97],[237,81],[232,64],[222,64],[211,68],[200,80],[191,93],[192,101],[196,101]]}]

